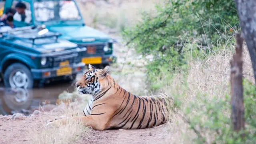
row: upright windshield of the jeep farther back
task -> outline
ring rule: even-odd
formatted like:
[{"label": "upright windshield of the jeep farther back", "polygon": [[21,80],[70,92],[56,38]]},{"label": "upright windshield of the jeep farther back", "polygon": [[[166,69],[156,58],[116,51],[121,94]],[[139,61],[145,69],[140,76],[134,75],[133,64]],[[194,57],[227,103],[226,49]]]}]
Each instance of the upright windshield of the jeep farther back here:
[{"label": "upright windshield of the jeep farther back", "polygon": [[81,20],[73,0],[35,0],[34,15],[38,22]]}]

